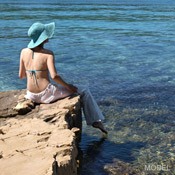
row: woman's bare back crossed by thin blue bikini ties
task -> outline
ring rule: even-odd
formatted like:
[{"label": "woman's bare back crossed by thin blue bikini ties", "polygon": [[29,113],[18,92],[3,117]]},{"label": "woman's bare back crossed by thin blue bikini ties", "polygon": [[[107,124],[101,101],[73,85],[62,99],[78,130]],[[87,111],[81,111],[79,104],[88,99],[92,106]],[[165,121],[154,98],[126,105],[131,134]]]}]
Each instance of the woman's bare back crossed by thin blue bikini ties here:
[{"label": "woman's bare back crossed by thin blue bikini ties", "polygon": [[43,91],[50,83],[47,59],[52,52],[46,49],[33,51],[31,49],[23,49],[21,59],[27,77],[27,89],[33,93]]}]

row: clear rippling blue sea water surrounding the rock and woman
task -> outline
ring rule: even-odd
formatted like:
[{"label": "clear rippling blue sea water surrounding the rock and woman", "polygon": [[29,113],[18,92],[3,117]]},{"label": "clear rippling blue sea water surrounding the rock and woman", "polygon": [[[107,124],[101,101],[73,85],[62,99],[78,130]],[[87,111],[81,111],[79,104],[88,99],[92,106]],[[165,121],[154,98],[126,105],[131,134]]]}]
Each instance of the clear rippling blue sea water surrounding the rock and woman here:
[{"label": "clear rippling blue sea water surrounding the rock and woman", "polygon": [[28,28],[55,22],[58,73],[105,115],[105,139],[83,121],[80,175],[174,175],[175,1],[0,0],[0,11],[0,91],[26,88]]}]

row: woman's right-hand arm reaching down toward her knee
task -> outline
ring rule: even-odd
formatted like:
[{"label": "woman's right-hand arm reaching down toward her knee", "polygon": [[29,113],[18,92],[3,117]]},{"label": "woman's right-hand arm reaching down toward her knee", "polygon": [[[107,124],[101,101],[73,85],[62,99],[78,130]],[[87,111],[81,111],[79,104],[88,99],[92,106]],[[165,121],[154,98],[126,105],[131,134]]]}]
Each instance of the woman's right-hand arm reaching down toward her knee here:
[{"label": "woman's right-hand arm reaching down toward her knee", "polygon": [[47,67],[48,70],[50,72],[50,76],[51,78],[58,84],[61,84],[62,86],[64,86],[65,88],[67,88],[68,90],[70,90],[72,93],[77,92],[77,87],[66,83],[60,75],[57,74],[56,68],[55,68],[55,59],[54,59],[54,55],[51,54],[48,59],[47,59]]}]

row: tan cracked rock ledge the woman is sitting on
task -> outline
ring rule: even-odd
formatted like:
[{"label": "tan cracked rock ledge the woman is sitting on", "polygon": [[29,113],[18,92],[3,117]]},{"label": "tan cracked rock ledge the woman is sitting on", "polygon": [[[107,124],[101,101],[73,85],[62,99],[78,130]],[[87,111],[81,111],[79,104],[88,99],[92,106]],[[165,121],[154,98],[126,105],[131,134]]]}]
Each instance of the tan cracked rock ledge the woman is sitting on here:
[{"label": "tan cracked rock ledge the woman is sitting on", "polygon": [[79,96],[36,105],[24,93],[0,92],[0,174],[76,175]]}]

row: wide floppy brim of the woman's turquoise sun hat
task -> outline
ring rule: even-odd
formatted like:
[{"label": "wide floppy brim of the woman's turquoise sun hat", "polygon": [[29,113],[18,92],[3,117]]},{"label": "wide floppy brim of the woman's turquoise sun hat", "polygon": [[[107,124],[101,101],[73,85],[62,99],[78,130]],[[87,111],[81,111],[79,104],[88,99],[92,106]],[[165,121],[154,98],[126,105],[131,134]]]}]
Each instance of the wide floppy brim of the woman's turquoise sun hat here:
[{"label": "wide floppy brim of the woman's turquoise sun hat", "polygon": [[49,24],[45,24],[45,30],[41,33],[41,35],[39,36],[39,38],[34,42],[34,40],[31,40],[28,44],[28,48],[32,49],[35,48],[37,46],[39,46],[42,42],[44,42],[45,40],[52,38],[54,31],[55,31],[55,23],[49,23]]}]

